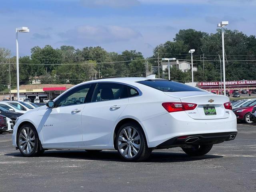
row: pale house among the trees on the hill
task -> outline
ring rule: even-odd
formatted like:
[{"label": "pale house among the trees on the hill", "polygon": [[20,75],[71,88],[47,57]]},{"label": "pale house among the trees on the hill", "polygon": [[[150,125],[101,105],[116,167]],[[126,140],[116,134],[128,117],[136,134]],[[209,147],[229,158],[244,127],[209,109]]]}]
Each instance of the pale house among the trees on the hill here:
[{"label": "pale house among the trees on the hill", "polygon": [[[188,70],[191,70],[191,63],[187,61],[180,62],[179,60],[176,60],[174,62],[170,62],[170,68],[172,68],[172,66],[176,66],[176,68],[180,69],[182,72],[187,72]],[[168,62],[161,62],[161,67],[163,73],[165,73],[164,71],[168,68]],[[197,71],[196,66],[193,66],[193,71]]]}]

